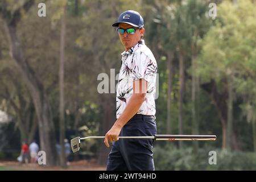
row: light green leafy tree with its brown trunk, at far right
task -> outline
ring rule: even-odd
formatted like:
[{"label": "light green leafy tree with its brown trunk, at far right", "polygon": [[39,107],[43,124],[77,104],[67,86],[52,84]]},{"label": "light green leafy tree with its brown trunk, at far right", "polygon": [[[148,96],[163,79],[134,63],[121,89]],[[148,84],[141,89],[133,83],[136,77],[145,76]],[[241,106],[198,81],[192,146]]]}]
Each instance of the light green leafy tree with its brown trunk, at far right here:
[{"label": "light green leafy tree with its brown trunk, at far right", "polygon": [[240,97],[235,92],[240,85],[235,85],[234,80],[245,79],[246,82],[248,73],[242,68],[246,70],[249,60],[254,59],[255,6],[250,1],[240,1],[236,5],[223,2],[218,12],[220,17],[216,26],[203,40],[197,71],[204,82],[211,80],[211,96],[222,121],[222,147],[239,149],[238,137],[234,132],[236,128],[233,127],[233,104]]}]

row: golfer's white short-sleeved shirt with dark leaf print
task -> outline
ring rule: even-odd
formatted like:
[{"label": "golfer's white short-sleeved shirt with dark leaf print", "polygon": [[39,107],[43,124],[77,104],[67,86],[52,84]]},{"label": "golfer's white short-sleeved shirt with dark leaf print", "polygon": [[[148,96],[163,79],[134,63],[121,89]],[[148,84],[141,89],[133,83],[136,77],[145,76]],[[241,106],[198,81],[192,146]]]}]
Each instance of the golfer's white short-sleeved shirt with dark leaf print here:
[{"label": "golfer's white short-sleeved shirt with dark leaf print", "polygon": [[133,81],[141,78],[148,82],[148,88],[146,100],[144,100],[137,114],[155,115],[156,72],[158,66],[154,55],[144,44],[143,39],[128,51],[122,52],[121,55],[122,64],[118,77],[116,117],[119,118],[133,95]]}]

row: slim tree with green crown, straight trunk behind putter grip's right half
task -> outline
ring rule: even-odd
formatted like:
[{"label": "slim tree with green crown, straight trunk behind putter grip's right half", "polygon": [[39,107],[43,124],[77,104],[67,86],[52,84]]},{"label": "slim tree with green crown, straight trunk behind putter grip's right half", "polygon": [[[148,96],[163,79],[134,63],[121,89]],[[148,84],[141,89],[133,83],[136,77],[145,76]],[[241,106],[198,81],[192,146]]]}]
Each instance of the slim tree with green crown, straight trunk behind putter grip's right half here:
[{"label": "slim tree with green crown, straight trunk behind putter grip's right half", "polygon": [[[210,27],[210,19],[205,15],[208,12],[208,3],[205,1],[188,1],[185,6],[187,11],[186,22],[188,24],[188,39],[191,43],[191,113],[192,113],[192,134],[199,134],[199,99],[200,99],[200,79],[194,72],[197,69],[196,58],[200,52],[199,42],[207,33]],[[198,141],[193,142],[193,151],[197,153],[199,147]]]}]

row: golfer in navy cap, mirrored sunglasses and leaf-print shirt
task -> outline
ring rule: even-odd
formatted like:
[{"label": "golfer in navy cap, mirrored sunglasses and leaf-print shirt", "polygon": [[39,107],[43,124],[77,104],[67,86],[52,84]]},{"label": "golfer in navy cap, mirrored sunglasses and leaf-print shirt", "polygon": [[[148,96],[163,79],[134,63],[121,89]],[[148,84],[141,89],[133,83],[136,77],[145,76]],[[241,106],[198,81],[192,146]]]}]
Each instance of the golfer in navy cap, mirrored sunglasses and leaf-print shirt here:
[{"label": "golfer in navy cap, mirrored sunglasses and leaf-print shirt", "polygon": [[157,64],[143,38],[144,20],[137,11],[125,11],[112,25],[125,51],[121,53],[116,116],[104,143],[109,153],[107,170],[154,170],[153,139],[118,139],[118,136],[154,136]]}]

